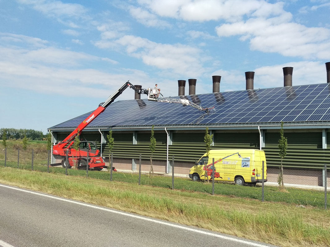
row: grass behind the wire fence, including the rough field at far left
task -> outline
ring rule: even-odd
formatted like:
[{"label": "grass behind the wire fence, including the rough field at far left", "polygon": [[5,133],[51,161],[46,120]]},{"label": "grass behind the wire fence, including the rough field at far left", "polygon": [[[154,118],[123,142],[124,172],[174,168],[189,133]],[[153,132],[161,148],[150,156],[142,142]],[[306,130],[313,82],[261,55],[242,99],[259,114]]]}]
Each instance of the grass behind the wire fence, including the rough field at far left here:
[{"label": "grass behind the wire fence, including the rough field at far left", "polygon": [[[19,168],[31,170],[31,159],[32,159],[32,148],[34,149],[34,170],[36,171],[47,171],[47,158],[48,153],[46,150],[45,141],[32,141],[29,142],[28,150],[23,151],[21,149],[22,141],[10,140],[7,142],[7,162],[6,165],[17,168],[17,149],[20,148],[19,152]],[[1,144],[2,145],[2,144]],[[0,145],[0,146],[1,146]],[[4,165],[4,152],[0,151],[0,166]],[[52,173],[64,174],[65,169],[63,168],[49,168]],[[68,169],[70,176],[86,176],[84,170],[72,170]],[[90,178],[97,178],[103,180],[109,180],[110,174],[107,172],[94,172],[89,171],[88,176]],[[137,183],[138,174],[130,173],[113,173],[113,180],[122,181],[127,183]],[[146,175],[141,176],[141,184],[157,186],[162,188],[172,188],[172,178],[167,176],[153,176],[149,177]],[[197,191],[203,193],[212,193],[211,183],[206,182],[194,182],[190,179],[175,178],[174,181],[175,189],[186,190],[186,191]],[[324,192],[314,191],[307,189],[294,189],[286,188],[289,193],[281,192],[277,187],[265,186],[264,200],[269,202],[281,202],[291,203],[296,205],[304,206],[315,206],[318,208],[324,208]],[[225,195],[231,197],[244,197],[249,199],[261,200],[262,188],[260,186],[236,186],[234,184],[216,182],[215,183],[215,194]],[[328,200],[327,207],[330,208],[330,200]]]}]

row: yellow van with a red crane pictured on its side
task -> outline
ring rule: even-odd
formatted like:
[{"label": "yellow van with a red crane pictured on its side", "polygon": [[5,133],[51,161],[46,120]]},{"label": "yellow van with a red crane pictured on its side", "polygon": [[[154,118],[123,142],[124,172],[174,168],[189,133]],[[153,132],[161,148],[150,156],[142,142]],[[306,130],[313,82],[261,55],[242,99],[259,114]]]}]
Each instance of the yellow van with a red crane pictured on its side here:
[{"label": "yellow van with a red crane pictured on its side", "polygon": [[[267,182],[265,152],[255,149],[215,149],[205,153],[196,165],[190,168],[189,178],[194,181],[212,178],[214,158],[214,180],[233,181],[238,185],[262,182],[262,161],[264,161],[264,182]],[[206,170],[205,170],[206,169]]]}]

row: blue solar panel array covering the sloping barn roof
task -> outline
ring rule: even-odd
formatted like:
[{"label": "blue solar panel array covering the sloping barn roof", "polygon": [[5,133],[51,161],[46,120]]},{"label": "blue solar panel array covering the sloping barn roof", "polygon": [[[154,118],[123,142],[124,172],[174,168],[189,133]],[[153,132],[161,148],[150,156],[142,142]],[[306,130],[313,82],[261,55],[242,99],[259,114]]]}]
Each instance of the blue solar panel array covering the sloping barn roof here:
[{"label": "blue solar panel array covering the sloping barn roof", "polygon": [[[88,127],[330,121],[330,84],[174,98],[180,97],[204,108],[214,109],[204,112],[177,103],[147,99],[122,100],[108,106]],[[89,114],[90,112],[51,128],[77,127]]]}]

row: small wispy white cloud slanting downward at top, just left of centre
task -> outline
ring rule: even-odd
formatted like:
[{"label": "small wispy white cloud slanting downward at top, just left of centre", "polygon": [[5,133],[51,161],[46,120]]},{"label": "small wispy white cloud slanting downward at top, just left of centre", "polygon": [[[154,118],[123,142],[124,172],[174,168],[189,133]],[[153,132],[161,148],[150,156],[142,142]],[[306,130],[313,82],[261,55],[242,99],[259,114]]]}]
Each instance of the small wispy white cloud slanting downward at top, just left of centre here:
[{"label": "small wispy white cloud slanting downward at top, just left of centre", "polygon": [[147,27],[171,27],[167,21],[162,21],[157,18],[157,15],[151,14],[149,11],[143,10],[142,8],[136,8],[133,6],[129,7],[129,13],[136,18],[136,20]]}]

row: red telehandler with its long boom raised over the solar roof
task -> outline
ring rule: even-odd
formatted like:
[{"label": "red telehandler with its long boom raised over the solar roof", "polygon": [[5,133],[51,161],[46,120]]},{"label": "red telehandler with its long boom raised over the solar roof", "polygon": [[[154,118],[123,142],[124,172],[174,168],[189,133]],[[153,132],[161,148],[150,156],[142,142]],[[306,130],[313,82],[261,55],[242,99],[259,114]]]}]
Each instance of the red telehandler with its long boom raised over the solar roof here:
[{"label": "red telehandler with its long boom raised over the solar roof", "polygon": [[[105,162],[102,157],[99,156],[99,150],[96,147],[96,144],[88,141],[81,141],[79,144],[79,150],[76,151],[72,145],[74,143],[74,139],[77,135],[82,133],[82,130],[90,124],[98,115],[100,115],[107,106],[109,106],[114,100],[122,94],[122,92],[126,88],[132,88],[138,94],[147,94],[148,90],[142,88],[136,88],[129,81],[125,82],[113,95],[109,96],[109,98],[100,103],[99,107],[93,111],[82,123],[78,125],[78,127],[71,132],[63,141],[55,143],[53,146],[53,154],[56,159],[61,159],[61,163],[52,164],[62,165],[64,168],[71,168],[74,166],[74,162],[77,162],[78,168],[86,168],[88,164],[88,168],[94,168],[94,170],[102,170],[103,168],[107,168]],[[87,160],[88,153],[88,160]],[[66,158],[66,156],[68,156]],[[67,164],[67,160],[69,164]]]}]

